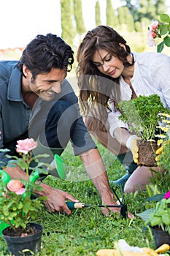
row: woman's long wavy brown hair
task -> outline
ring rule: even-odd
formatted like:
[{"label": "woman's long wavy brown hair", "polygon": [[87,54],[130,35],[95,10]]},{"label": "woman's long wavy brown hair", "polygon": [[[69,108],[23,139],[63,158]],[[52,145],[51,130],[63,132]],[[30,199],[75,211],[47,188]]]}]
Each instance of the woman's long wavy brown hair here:
[{"label": "woman's long wavy brown hair", "polygon": [[[125,49],[120,44],[125,45]],[[93,55],[99,49],[107,50],[112,56],[123,61],[125,67],[134,63],[129,64],[127,61],[131,49],[126,45],[125,39],[109,26],[97,26],[88,31],[77,50],[77,78],[82,112],[85,116],[92,112],[94,116],[99,114],[100,118],[93,118],[88,129],[98,127],[102,130],[110,110],[109,101],[114,103],[115,109],[120,102],[120,86],[119,78],[114,79],[102,74],[93,64]]]}]

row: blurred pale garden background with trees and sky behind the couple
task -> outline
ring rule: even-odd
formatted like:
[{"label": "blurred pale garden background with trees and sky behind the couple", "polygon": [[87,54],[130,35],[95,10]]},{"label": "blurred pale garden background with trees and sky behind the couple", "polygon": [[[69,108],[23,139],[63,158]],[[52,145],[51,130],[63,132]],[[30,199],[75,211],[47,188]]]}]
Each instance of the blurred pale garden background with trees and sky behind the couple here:
[{"label": "blurred pale garden background with trees and sky behind the couple", "polygon": [[152,20],[160,20],[161,13],[170,13],[168,0],[30,0],[26,8],[23,3],[1,3],[0,59],[19,59],[36,34],[50,32],[63,37],[76,56],[85,33],[100,24],[117,30],[132,51],[156,51],[147,46],[147,28]]}]

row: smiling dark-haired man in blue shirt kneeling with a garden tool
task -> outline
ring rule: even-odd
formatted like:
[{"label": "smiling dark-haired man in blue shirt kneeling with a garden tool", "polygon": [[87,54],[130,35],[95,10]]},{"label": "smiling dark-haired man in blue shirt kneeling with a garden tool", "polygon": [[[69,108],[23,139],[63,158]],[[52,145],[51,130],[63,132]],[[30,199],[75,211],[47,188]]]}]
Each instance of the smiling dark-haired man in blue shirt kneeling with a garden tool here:
[{"label": "smiling dark-haired man in blue shirt kneeling with a garden tool", "polygon": [[[72,48],[54,34],[38,35],[23,50],[20,61],[0,61],[0,148],[9,148],[10,154],[15,154],[17,140],[34,138],[39,142],[39,152],[50,148],[53,154],[61,154],[70,140],[102,203],[115,205],[101,156],[82,121],[77,97],[65,79],[73,62]],[[0,160],[11,178],[26,178],[20,167],[7,166],[4,152]],[[49,211],[71,214],[65,200],[78,200],[47,184],[41,186],[43,191],[37,195],[47,197]],[[107,208],[102,212],[107,215]]]}]

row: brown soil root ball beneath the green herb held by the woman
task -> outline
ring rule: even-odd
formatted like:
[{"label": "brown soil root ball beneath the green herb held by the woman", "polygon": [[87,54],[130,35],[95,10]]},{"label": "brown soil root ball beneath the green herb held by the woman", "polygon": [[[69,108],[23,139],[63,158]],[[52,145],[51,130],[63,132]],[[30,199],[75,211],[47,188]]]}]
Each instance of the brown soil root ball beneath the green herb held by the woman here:
[{"label": "brown soil root ball beneath the green herb held by the woman", "polygon": [[139,141],[138,165],[155,166],[155,151],[158,149],[155,141]]}]

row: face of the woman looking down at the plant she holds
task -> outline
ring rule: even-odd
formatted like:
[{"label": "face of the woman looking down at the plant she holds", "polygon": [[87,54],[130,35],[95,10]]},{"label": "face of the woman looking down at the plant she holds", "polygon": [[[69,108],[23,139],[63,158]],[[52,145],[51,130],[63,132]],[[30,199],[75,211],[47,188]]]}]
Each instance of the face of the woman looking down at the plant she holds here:
[{"label": "face of the woman looking down at the plant she holds", "polygon": [[112,78],[118,78],[124,69],[123,61],[104,49],[96,50],[92,61],[101,73]]}]

